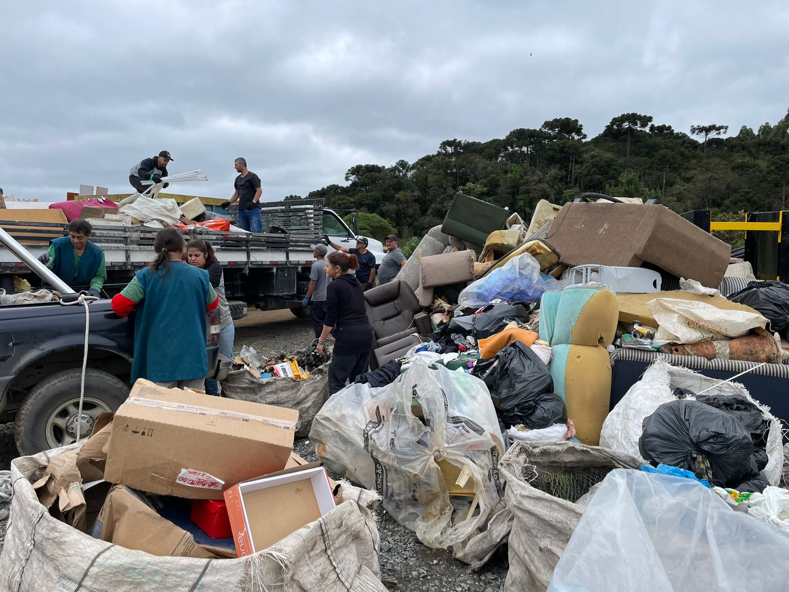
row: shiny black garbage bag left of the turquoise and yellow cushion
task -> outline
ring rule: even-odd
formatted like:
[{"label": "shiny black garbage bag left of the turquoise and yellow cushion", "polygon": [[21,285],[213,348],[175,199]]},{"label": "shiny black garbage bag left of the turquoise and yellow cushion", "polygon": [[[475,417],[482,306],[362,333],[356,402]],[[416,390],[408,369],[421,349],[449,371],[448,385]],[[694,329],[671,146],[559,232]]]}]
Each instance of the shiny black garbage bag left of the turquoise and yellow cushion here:
[{"label": "shiny black garbage bag left of the turquoise and yellow cushion", "polygon": [[529,346],[511,343],[477,376],[488,385],[496,413],[507,428],[523,424],[542,429],[567,423],[567,409],[553,392],[551,373]]}]

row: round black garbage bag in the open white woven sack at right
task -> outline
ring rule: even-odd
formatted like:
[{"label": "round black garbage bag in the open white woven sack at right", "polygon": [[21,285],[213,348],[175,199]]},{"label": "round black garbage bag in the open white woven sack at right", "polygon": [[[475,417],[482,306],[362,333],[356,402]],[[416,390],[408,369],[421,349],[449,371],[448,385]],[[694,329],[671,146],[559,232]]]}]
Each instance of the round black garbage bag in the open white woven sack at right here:
[{"label": "round black garbage bag in the open white woven sack at right", "polygon": [[654,466],[679,466],[722,487],[757,476],[750,432],[724,410],[679,399],[658,407],[642,425],[638,450]]}]

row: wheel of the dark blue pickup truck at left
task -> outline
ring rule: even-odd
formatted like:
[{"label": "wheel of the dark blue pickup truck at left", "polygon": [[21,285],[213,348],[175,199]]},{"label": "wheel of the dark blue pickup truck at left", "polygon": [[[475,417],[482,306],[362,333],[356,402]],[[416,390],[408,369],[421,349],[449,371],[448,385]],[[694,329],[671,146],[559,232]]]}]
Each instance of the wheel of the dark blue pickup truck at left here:
[{"label": "wheel of the dark blue pickup truck at left", "polygon": [[[75,441],[81,379],[82,369],[73,368],[54,373],[31,389],[13,426],[14,440],[21,455],[34,455]],[[99,414],[118,410],[128,395],[129,385],[123,380],[103,370],[88,368],[85,371],[82,434],[88,436]]]}]

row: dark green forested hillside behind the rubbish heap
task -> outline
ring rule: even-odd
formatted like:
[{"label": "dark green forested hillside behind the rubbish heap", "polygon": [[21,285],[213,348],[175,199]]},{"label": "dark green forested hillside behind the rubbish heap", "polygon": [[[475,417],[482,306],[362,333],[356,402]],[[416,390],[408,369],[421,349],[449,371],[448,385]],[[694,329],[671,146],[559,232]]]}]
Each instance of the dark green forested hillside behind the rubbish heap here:
[{"label": "dark green forested hillside behind the rubbish heap", "polygon": [[[712,209],[713,219],[787,207],[789,111],[756,131],[700,122],[687,131],[645,114],[611,119],[587,138],[578,119],[513,129],[486,142],[447,140],[435,154],[391,166],[357,164],[346,185],[308,194],[328,208],[356,209],[361,229],[421,237],[443,222],[454,194],[478,197],[528,221],[539,200],[563,204],[587,191],[662,200],[675,212]],[[286,199],[301,199],[289,196]]]}]

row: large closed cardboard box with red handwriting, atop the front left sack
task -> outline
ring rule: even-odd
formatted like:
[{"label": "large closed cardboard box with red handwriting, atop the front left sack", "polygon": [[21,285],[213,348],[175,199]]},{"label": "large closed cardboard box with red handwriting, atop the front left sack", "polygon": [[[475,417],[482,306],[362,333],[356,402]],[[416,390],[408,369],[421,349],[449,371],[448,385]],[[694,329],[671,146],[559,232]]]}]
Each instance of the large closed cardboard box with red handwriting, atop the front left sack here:
[{"label": "large closed cardboard box with red handwriting, atop the front left sack", "polygon": [[298,411],[137,380],[115,412],[104,478],[149,493],[221,500],[222,491],[282,470]]}]

